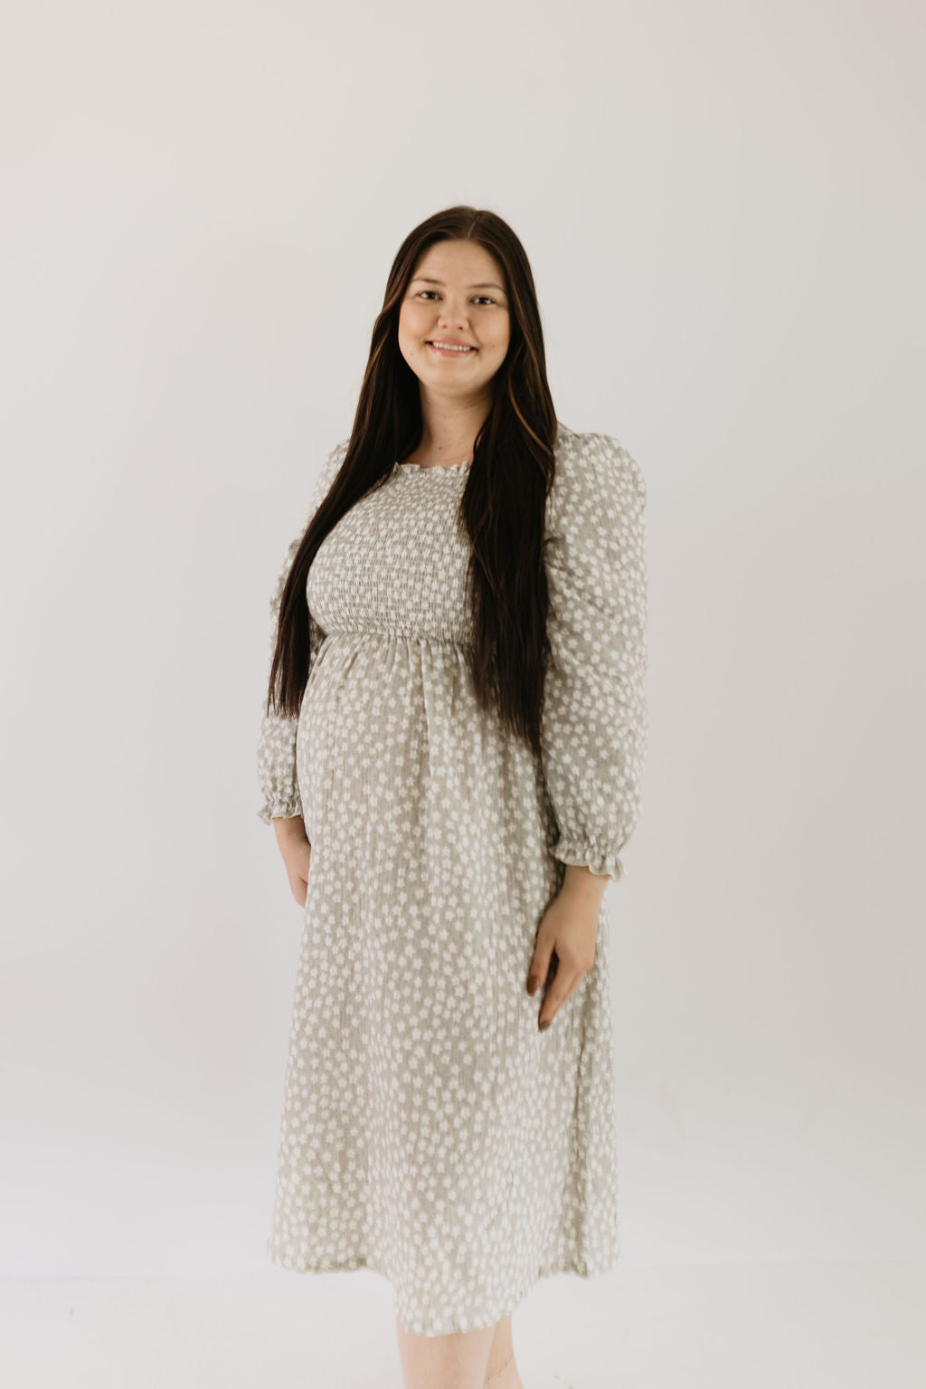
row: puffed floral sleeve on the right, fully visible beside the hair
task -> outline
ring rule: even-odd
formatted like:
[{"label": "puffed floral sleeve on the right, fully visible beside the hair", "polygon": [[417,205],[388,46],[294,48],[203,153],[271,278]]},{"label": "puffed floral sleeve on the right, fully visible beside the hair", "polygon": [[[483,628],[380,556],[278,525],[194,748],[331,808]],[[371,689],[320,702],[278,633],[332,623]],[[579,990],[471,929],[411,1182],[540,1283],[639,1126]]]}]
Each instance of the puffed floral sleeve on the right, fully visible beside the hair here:
[{"label": "puffed floral sleeve on the right, fully visible beside the hair", "polygon": [[648,711],[646,485],[608,435],[573,435],[547,499],[550,664],[541,717],[551,846],[615,881],[640,813]]}]

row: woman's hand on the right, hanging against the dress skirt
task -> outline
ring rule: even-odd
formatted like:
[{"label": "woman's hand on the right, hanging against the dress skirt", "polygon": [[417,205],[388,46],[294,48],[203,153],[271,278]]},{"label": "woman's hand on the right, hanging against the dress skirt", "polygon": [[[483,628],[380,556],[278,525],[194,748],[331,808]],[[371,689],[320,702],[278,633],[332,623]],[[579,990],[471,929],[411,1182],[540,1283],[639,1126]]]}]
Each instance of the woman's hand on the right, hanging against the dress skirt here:
[{"label": "woman's hand on the right, hanging against the dress skirt", "polygon": [[528,972],[528,993],[537,992],[550,972],[554,950],[557,954],[553,982],[537,1014],[541,1032],[550,1026],[594,964],[598,911],[607,883],[607,876],[593,874],[589,868],[566,865],[562,888],[540,920]]}]

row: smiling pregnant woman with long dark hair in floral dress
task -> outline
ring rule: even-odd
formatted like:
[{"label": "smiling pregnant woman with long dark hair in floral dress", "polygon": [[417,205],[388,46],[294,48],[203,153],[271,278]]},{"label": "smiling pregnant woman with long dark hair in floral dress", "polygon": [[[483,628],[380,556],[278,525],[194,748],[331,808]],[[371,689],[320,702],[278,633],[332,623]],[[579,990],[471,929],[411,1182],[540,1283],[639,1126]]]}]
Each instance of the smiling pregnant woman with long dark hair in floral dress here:
[{"label": "smiling pregnant woman with long dark hair in floral dress", "polygon": [[557,421],[511,228],[416,226],[272,596],[257,757],[304,907],[268,1253],[387,1276],[407,1389],[516,1389],[515,1306],[618,1257],[644,503]]}]

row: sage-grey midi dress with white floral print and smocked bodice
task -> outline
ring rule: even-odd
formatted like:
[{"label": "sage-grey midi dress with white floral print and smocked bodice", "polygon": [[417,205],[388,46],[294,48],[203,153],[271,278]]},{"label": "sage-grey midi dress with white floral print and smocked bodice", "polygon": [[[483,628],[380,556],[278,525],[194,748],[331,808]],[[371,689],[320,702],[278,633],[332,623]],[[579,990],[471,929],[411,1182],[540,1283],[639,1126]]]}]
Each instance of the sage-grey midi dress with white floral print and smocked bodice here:
[{"label": "sage-grey midi dress with white floral print and smocked bodice", "polygon": [[554,461],[540,754],[466,664],[471,464],[396,463],[328,533],[300,714],[260,725],[258,815],[301,815],[311,843],[267,1253],[382,1274],[423,1336],[619,1254],[607,892],[594,964],[544,1032],[526,982],[565,865],[621,879],[639,818],[646,488],[608,435],[559,424]]}]

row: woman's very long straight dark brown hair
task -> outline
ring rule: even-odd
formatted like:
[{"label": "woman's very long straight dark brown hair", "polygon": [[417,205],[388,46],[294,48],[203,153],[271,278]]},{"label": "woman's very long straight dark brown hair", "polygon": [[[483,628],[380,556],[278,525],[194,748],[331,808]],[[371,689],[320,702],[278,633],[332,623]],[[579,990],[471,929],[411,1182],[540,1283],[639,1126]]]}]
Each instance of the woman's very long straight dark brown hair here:
[{"label": "woman's very long straight dark brown hair", "polygon": [[354,503],[421,443],[419,382],[398,347],[398,313],[422,254],[446,240],[475,242],[500,261],[510,313],[508,351],[491,378],[491,407],[476,435],[460,503],[461,525],[472,544],[475,640],[469,668],[479,704],[497,710],[516,736],[539,750],[550,654],[543,535],[557,415],[523,246],[501,217],[475,207],[435,213],[408,233],[393,261],[344,461],[303,536],[283,588],[267,708],[290,718],[300,711],[310,657],[305,583],[318,547]]}]

